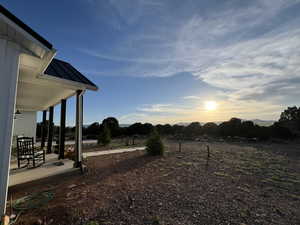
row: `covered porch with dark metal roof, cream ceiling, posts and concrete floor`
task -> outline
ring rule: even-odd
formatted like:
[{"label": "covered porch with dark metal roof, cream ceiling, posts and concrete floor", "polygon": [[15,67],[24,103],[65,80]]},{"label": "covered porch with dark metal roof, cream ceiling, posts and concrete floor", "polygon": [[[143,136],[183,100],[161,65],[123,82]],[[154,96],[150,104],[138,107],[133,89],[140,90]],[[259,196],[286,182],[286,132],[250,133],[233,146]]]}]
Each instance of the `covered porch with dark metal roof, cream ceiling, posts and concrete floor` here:
[{"label": "covered porch with dark metal roof, cream ceiling, posts and concrete floor", "polygon": [[[97,87],[67,62],[52,59],[43,75],[37,74],[38,61],[22,56],[27,64],[20,64],[14,112],[14,142],[18,136],[33,137],[34,147],[44,151],[45,162],[20,166],[18,145],[13,144],[15,155],[11,157],[9,186],[82,169],[83,95],[87,89]],[[76,98],[75,144],[72,159],[66,158],[65,128],[67,101]],[[60,108],[59,137],[54,151],[54,107]],[[36,143],[37,112],[42,111],[41,140]],[[14,146],[15,145],[15,146]],[[16,153],[17,151],[17,153]],[[26,160],[25,160],[26,161]],[[19,165],[18,165],[19,164]]]}]

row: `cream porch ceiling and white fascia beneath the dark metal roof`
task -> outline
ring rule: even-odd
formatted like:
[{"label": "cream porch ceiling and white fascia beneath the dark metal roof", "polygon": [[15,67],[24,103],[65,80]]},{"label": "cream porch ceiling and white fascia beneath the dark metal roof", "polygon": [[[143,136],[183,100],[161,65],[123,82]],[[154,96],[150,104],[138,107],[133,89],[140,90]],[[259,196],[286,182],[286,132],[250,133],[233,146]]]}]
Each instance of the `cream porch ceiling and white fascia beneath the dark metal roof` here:
[{"label": "cream porch ceiling and white fascia beneath the dark metal roof", "polygon": [[40,60],[36,57],[22,54],[21,59],[16,99],[19,110],[47,110],[75,95],[77,90],[98,90],[97,86],[39,73]]}]

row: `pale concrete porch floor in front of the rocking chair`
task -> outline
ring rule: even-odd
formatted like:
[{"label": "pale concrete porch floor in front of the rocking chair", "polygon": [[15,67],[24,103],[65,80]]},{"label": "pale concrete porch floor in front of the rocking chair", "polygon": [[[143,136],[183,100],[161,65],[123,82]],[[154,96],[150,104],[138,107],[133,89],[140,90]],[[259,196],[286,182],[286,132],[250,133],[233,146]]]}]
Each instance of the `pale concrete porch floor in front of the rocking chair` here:
[{"label": "pale concrete porch floor in front of the rocking chair", "polygon": [[[79,168],[73,168],[74,161],[58,160],[57,157],[57,154],[47,154],[46,163],[37,168],[18,169],[17,162],[13,161],[10,166],[9,187],[79,170]],[[58,162],[62,162],[63,165],[55,165]]]}]

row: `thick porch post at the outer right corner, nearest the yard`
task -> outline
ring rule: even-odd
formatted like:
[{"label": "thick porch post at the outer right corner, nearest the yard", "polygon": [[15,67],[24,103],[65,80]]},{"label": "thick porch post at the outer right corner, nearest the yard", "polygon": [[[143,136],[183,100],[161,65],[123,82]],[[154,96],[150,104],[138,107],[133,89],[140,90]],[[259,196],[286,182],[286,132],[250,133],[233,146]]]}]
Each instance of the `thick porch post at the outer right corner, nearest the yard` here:
[{"label": "thick porch post at the outer right corner, nearest the yard", "polygon": [[82,124],[83,124],[83,91],[76,92],[76,130],[75,130],[75,154],[74,167],[81,167],[82,161]]}]

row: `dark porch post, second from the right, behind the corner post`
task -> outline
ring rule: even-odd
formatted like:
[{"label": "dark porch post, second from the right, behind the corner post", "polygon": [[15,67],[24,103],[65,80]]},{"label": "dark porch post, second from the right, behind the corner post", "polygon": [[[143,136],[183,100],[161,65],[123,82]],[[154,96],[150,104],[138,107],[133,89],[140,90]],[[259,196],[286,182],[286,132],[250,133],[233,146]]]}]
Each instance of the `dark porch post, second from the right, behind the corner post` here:
[{"label": "dark porch post, second from the right, behind the corner post", "polygon": [[58,157],[58,159],[65,158],[66,106],[67,106],[67,100],[62,99],[61,100],[61,110],[60,110],[59,157]]}]

